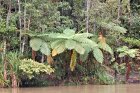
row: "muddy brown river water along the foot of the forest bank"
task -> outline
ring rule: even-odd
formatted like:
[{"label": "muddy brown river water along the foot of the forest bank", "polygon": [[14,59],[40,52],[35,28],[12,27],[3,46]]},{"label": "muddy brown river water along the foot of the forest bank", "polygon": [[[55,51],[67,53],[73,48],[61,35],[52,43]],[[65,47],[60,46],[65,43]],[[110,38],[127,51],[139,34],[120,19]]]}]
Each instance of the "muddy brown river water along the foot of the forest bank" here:
[{"label": "muddy brown river water along the foot of the forest bank", "polygon": [[45,88],[0,89],[0,93],[140,93],[140,84],[136,85],[84,85]]}]

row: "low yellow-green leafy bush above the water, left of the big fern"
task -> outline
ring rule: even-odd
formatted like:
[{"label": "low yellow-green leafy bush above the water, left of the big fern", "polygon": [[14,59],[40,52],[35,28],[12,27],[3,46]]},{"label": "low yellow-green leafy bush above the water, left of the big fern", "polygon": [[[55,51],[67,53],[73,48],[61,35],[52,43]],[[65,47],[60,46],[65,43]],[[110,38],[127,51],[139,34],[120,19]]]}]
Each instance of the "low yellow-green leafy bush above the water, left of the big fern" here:
[{"label": "low yellow-green leafy bush above the water, left of the big fern", "polygon": [[[32,59],[23,59],[19,65],[19,70],[22,76],[27,76],[27,78],[32,79],[35,75],[41,73],[51,74],[54,69],[50,65],[45,65],[43,63],[36,62]],[[22,77],[21,77],[22,78]]]}]

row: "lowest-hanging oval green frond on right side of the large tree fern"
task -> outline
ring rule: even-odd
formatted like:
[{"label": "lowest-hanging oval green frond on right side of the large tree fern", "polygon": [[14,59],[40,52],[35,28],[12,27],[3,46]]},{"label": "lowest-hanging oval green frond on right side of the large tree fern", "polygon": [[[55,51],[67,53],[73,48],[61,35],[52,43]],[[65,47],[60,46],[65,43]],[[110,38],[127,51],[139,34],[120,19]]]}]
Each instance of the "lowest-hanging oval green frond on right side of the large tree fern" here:
[{"label": "lowest-hanging oval green frond on right side of the large tree fern", "polygon": [[93,55],[98,62],[103,63],[103,53],[99,48],[94,48]]}]

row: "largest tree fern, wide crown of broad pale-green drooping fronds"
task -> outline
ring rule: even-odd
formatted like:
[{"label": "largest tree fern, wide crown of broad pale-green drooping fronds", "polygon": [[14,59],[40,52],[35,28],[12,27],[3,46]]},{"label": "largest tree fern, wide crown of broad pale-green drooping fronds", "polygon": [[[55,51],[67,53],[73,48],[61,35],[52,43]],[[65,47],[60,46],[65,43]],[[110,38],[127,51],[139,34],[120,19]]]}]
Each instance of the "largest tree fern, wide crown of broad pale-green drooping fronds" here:
[{"label": "largest tree fern, wide crown of broad pale-green drooping fronds", "polygon": [[[103,49],[109,52],[111,55],[113,55],[112,49],[109,47],[109,45],[106,44],[106,42],[105,47],[103,47],[100,43],[97,44],[94,40],[89,39],[89,37],[93,36],[93,34],[90,33],[75,33],[75,31],[72,29],[65,29],[63,33],[50,33],[49,35],[46,35],[49,38],[52,38],[52,41],[50,41],[52,48],[52,56],[56,56],[68,49],[75,50],[75,52],[80,54],[80,57],[84,56],[83,58],[85,60],[88,56],[88,53],[92,51],[94,58],[98,62],[102,63],[104,59],[103,53],[100,49]],[[45,46],[47,47],[47,44],[42,44],[41,42],[44,42],[43,40],[37,38],[36,40],[31,40],[31,42],[35,42],[31,43],[31,47],[33,47],[35,50],[41,50],[41,52],[43,53],[44,51],[49,51],[49,49],[44,50]],[[34,47],[35,45],[37,47]],[[43,49],[40,49],[40,47],[43,47]]]}]

